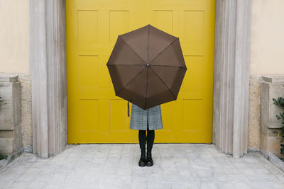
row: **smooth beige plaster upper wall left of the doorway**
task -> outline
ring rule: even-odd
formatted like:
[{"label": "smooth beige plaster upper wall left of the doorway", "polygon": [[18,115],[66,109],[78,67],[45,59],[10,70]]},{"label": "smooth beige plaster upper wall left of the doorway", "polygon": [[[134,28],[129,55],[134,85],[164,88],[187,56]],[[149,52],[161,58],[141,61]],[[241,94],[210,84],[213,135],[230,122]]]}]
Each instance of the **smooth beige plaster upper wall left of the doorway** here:
[{"label": "smooth beige plaster upper wall left of the doorway", "polygon": [[29,72],[29,1],[0,0],[0,72]]}]

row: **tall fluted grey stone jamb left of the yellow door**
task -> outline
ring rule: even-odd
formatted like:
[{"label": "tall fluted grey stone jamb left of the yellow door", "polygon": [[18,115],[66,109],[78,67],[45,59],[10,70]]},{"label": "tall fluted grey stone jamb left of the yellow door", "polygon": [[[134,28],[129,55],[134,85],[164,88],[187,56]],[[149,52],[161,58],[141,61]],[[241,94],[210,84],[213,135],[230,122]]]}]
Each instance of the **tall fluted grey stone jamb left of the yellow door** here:
[{"label": "tall fluted grey stone jamb left of the yellow door", "polygon": [[48,158],[67,145],[65,1],[30,0],[33,153]]}]

